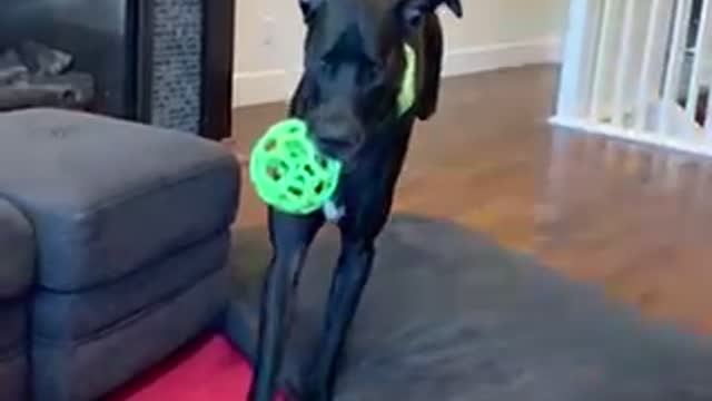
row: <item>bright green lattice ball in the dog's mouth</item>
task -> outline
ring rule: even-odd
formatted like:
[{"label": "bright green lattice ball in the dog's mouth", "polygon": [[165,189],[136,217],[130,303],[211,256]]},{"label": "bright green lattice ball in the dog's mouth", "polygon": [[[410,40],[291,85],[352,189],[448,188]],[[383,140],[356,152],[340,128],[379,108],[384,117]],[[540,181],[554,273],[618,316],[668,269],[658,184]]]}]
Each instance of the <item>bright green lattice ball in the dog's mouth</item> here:
[{"label": "bright green lattice ball in the dog's mouth", "polygon": [[318,211],[338,185],[342,163],[322,155],[307,134],[304,121],[287,119],[270,127],[250,155],[250,180],[257,195],[284,213]]}]

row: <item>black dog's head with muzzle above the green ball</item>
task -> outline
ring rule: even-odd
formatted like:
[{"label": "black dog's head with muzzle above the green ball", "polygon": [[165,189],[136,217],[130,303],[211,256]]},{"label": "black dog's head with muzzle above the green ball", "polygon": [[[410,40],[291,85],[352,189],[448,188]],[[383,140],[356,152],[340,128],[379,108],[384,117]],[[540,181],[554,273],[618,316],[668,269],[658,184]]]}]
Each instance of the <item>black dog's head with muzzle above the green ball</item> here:
[{"label": "black dog's head with muzzle above the green ball", "polygon": [[462,16],[459,0],[300,0],[307,36],[291,114],[323,151],[348,163],[398,114],[406,39],[442,4]]}]

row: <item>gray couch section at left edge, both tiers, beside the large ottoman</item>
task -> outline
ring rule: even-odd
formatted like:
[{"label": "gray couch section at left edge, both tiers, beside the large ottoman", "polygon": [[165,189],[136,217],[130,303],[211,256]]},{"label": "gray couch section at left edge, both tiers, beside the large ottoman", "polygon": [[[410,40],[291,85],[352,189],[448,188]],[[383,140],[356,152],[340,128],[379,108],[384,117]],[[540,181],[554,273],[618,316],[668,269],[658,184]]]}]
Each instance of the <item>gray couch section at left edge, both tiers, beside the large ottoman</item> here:
[{"label": "gray couch section at left edge, both tiers, beside the large ottoman", "polygon": [[0,401],[27,399],[33,244],[30,224],[0,199]]}]

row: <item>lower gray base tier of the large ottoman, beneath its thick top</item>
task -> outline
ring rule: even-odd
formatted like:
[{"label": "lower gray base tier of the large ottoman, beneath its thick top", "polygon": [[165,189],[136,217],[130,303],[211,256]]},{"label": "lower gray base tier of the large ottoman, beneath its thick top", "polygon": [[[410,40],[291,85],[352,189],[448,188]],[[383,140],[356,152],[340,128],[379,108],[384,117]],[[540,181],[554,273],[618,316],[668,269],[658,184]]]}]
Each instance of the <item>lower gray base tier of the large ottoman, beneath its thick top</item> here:
[{"label": "lower gray base tier of the large ottoman, beneath its thick top", "polygon": [[90,338],[34,339],[33,400],[105,399],[208,330],[225,311],[228,282],[220,268]]}]

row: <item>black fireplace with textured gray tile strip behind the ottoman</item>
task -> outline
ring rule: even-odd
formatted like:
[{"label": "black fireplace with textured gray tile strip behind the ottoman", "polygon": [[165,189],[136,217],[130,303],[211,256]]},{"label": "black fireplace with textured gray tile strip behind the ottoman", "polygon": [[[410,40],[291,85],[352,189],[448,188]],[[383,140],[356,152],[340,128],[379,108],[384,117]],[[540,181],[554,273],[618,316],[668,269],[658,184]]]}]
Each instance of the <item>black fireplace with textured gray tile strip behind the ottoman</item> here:
[{"label": "black fireplace with textured gray tile strip behind the ottoman", "polygon": [[60,91],[33,99],[40,105],[82,100],[67,105],[228,137],[233,28],[234,0],[2,0],[0,65],[3,58],[6,66],[30,61],[20,63],[28,67],[24,78],[16,77],[20,84],[3,86],[0,79],[0,98],[3,88],[83,85],[76,90],[80,96]]}]

